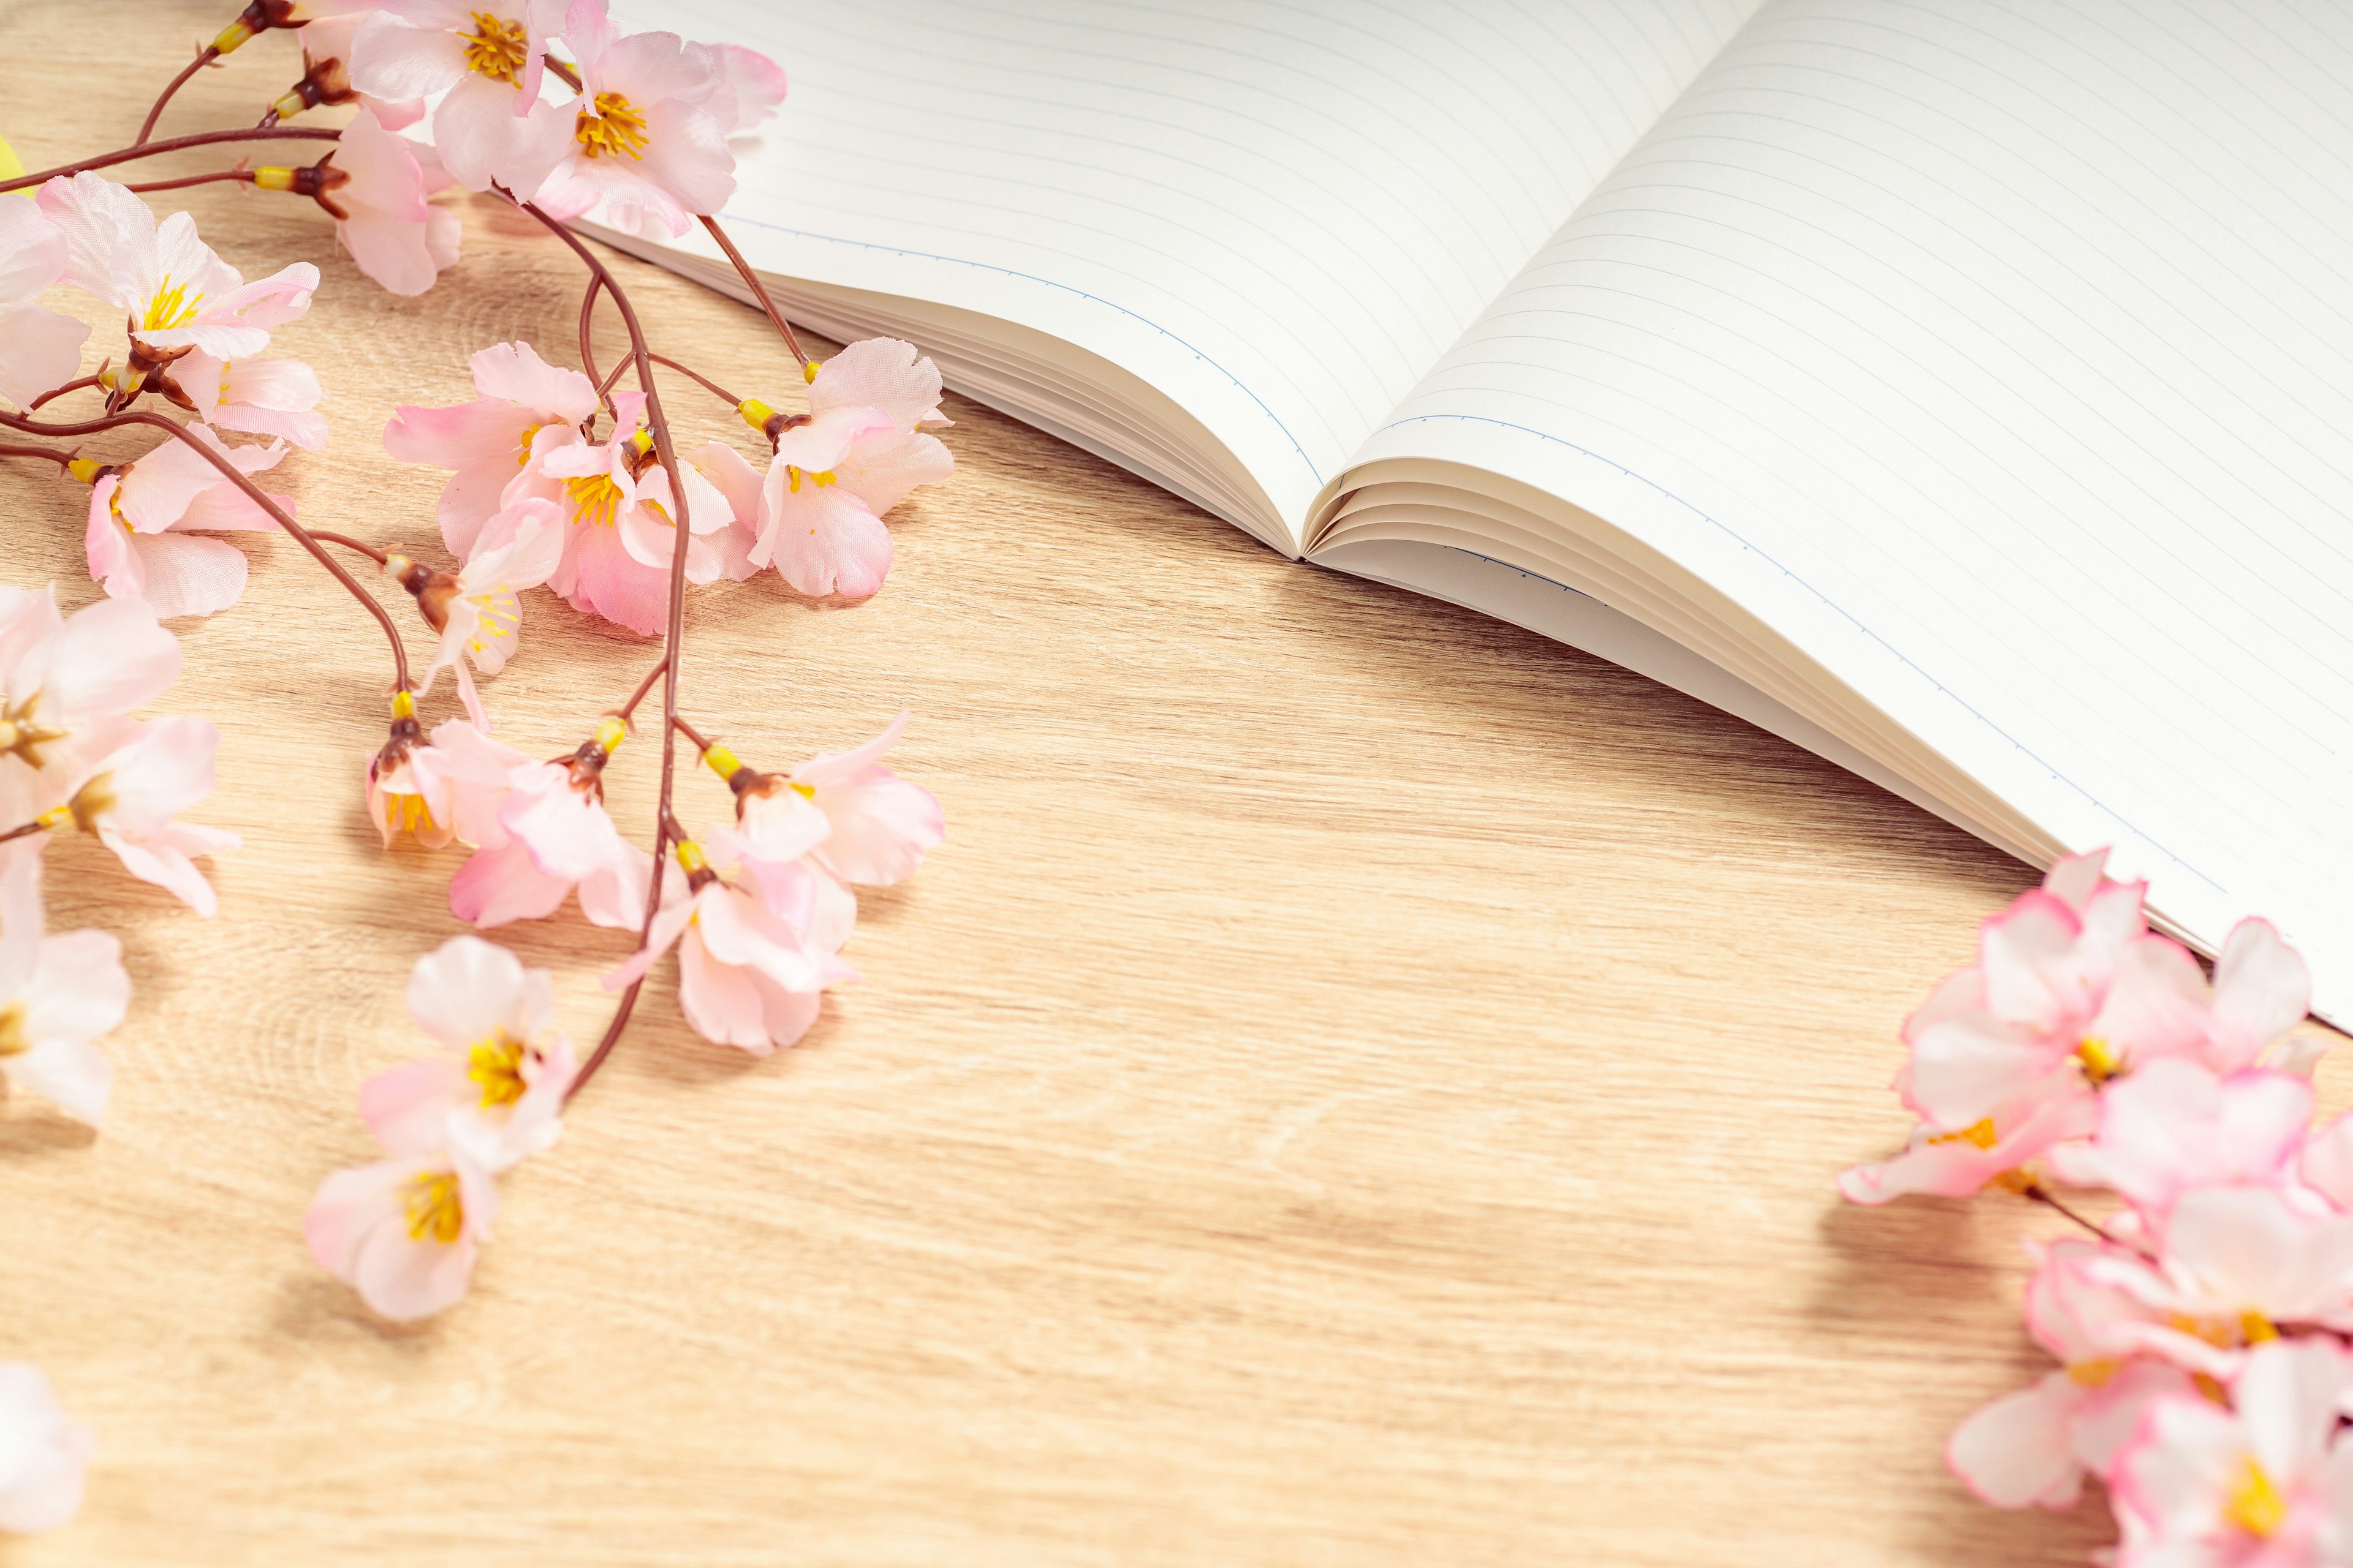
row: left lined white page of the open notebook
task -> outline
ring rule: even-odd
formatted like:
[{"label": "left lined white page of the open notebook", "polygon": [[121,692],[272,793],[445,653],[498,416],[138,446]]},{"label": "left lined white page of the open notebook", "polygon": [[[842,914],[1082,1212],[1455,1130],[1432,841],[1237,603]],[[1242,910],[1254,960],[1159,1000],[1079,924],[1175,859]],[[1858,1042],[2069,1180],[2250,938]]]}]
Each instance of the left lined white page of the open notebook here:
[{"label": "left lined white page of the open notebook", "polygon": [[791,75],[725,214],[753,266],[1078,343],[1195,409],[1294,536],[1748,9],[614,5]]}]

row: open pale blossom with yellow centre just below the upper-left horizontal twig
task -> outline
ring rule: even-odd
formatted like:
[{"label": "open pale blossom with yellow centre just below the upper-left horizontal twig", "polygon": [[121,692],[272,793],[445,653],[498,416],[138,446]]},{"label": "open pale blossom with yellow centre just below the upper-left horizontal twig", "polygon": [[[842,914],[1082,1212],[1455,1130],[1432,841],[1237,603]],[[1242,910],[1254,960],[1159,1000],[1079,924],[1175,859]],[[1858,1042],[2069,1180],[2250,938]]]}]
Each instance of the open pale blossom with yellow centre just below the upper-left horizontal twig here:
[{"label": "open pale blossom with yellow centre just below the upper-left horizontal twig", "polygon": [[132,190],[82,172],[40,188],[40,212],[66,235],[66,282],[129,315],[129,334],[160,357],[202,348],[221,360],[259,355],[271,327],[311,308],[308,261],[245,282],[174,212],[160,226]]}]

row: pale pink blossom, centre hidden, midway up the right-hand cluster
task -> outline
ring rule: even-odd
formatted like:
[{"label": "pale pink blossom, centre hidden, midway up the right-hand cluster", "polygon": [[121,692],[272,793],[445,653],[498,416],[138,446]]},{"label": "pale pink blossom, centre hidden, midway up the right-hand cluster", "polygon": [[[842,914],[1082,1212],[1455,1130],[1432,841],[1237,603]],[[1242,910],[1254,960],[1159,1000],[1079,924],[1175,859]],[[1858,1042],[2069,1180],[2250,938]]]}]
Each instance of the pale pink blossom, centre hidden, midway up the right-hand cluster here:
[{"label": "pale pink blossom, centre hidden, midway up the right-hand cluster", "polygon": [[2299,1077],[2221,1077],[2188,1058],[2160,1058],[2108,1086],[2092,1143],[2052,1150],[2052,1168],[2078,1187],[2113,1187],[2162,1229],[2174,1199],[2193,1187],[2282,1180],[2311,1121],[2313,1088]]}]

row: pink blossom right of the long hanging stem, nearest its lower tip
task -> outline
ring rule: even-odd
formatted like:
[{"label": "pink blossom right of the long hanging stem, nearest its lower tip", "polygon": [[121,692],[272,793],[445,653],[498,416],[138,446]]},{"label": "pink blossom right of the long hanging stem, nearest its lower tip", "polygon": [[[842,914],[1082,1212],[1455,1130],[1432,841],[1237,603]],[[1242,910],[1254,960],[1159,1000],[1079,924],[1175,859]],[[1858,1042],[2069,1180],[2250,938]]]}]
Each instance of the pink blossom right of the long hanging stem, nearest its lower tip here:
[{"label": "pink blossom right of the long hanging stem, nearest its lower tip", "polygon": [[746,863],[725,827],[680,844],[678,865],[685,896],[666,898],[652,940],[605,987],[645,978],[675,943],[678,1001],[696,1034],[753,1056],[795,1044],[821,992],[856,978],[833,957],[856,917],[849,893],[807,863]]}]

